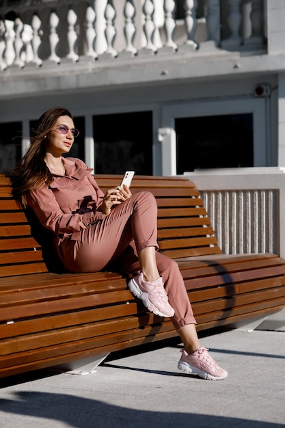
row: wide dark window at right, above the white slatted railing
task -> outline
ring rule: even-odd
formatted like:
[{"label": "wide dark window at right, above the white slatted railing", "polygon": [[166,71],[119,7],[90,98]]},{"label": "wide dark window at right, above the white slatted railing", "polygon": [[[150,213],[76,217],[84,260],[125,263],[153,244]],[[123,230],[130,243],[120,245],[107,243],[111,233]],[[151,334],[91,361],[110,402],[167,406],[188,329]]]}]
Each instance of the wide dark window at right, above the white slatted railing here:
[{"label": "wide dark window at right, above the white slatted railing", "polygon": [[252,114],[178,118],[177,174],[254,166]]}]

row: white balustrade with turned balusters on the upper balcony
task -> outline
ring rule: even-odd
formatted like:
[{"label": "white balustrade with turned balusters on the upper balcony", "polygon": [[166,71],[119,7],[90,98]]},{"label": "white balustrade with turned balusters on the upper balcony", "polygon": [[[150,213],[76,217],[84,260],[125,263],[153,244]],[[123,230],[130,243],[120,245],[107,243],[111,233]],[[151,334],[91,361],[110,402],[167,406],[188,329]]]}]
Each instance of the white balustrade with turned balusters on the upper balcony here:
[{"label": "white balustrade with turned balusters on the upper balcony", "polygon": [[267,1],[3,0],[0,70],[209,47],[262,49]]}]

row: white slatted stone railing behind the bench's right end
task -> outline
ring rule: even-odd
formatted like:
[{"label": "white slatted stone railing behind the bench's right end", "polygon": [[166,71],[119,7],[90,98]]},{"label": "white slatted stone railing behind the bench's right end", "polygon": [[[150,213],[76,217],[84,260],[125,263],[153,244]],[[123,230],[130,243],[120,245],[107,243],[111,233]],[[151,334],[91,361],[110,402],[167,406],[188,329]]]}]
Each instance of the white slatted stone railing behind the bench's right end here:
[{"label": "white slatted stone railing behind the bench's right end", "polygon": [[184,175],[201,191],[223,252],[285,256],[285,168],[200,170]]}]

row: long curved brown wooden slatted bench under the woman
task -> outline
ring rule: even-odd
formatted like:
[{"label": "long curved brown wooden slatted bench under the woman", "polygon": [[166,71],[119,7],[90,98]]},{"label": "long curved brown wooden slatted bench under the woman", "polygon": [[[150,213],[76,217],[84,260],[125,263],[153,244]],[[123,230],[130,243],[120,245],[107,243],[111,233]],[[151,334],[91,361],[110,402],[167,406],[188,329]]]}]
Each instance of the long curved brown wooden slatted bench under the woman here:
[{"label": "long curved brown wooden slatted bench under the woman", "polygon": [[[109,189],[120,176],[96,180]],[[157,198],[161,252],[178,260],[198,330],[236,326],[285,306],[285,261],[276,254],[221,254],[191,181],[137,176],[132,191],[141,189]],[[134,299],[118,273],[48,271],[5,176],[0,204],[0,377],[177,336],[169,319]]]}]

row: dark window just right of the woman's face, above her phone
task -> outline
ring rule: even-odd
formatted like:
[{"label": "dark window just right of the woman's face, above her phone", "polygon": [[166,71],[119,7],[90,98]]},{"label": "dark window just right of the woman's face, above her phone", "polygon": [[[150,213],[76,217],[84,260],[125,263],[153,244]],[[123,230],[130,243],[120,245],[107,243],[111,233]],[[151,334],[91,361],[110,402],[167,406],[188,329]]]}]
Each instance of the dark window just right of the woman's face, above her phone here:
[{"label": "dark window just right of the woman's face, above her phone", "polygon": [[152,112],[94,116],[96,174],[152,174]]}]

